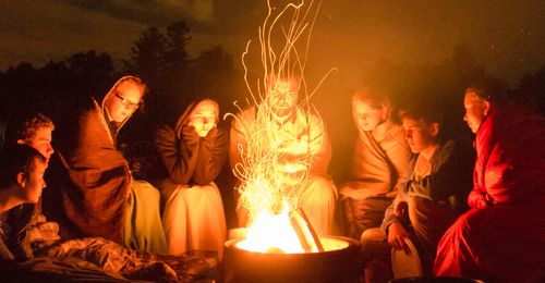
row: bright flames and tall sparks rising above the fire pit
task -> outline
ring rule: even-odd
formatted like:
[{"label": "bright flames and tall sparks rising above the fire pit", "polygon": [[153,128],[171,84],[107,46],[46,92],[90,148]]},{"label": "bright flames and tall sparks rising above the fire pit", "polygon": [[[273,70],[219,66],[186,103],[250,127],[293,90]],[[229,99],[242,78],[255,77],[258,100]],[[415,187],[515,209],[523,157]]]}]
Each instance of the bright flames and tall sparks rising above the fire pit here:
[{"label": "bright flames and tall sparks rising above the fire pit", "polygon": [[[237,189],[240,201],[250,213],[246,238],[238,246],[261,253],[303,253],[304,247],[290,221],[290,211],[300,207],[299,199],[304,193],[304,183],[315,153],[311,148],[313,140],[307,135],[293,137],[286,134],[286,125],[277,121],[279,109],[289,108],[289,103],[276,101],[278,98],[271,95],[295,95],[295,100],[298,96],[302,97],[296,104],[298,109],[304,110],[306,120],[308,113],[314,111],[323,127],[322,119],[308,100],[334,69],[314,90],[307,88],[304,78],[306,53],[319,3],[316,7],[313,0],[301,1],[276,9],[268,0],[267,7],[267,16],[258,29],[264,76],[257,79],[255,87],[250,83],[245,62],[251,41],[242,54],[244,81],[253,103],[247,102],[255,106],[257,115],[250,123],[244,121],[243,115],[233,115],[242,125],[241,131],[246,142],[244,146],[238,145],[242,161],[235,165],[233,173],[242,181]],[[289,15],[291,20],[286,21]],[[303,52],[298,49],[296,44],[302,38],[306,39]],[[278,41],[283,41],[284,45],[278,45]],[[293,82],[293,77],[299,81]]]}]

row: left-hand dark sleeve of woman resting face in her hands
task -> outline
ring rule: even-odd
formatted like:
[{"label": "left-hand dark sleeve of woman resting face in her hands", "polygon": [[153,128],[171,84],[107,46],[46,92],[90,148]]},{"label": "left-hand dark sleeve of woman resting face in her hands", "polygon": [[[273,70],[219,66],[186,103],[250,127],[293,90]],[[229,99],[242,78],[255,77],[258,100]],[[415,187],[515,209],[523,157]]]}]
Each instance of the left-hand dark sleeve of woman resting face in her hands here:
[{"label": "left-hand dark sleeve of woman resting face in her hands", "polygon": [[[161,126],[157,131],[156,146],[167,172],[177,184],[187,184],[195,170],[195,162],[198,151],[198,136],[192,133],[192,127],[183,128],[182,138],[175,136],[174,130],[170,126]],[[195,138],[195,136],[197,138]],[[185,152],[182,152],[181,143],[185,143]]]}]

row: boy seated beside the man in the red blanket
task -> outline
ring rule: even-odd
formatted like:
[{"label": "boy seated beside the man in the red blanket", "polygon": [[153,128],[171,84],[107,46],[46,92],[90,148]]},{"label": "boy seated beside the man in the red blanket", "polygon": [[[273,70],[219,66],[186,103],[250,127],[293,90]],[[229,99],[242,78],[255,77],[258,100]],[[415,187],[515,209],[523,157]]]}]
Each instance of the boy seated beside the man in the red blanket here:
[{"label": "boy seated beside the man in the red blanket", "polygon": [[429,275],[439,238],[464,209],[473,155],[470,147],[443,140],[439,120],[439,113],[425,103],[401,111],[405,139],[416,155],[382,226],[362,235],[367,274],[372,260],[390,266],[391,248],[408,253],[404,238],[409,237],[419,250],[424,274]]}]

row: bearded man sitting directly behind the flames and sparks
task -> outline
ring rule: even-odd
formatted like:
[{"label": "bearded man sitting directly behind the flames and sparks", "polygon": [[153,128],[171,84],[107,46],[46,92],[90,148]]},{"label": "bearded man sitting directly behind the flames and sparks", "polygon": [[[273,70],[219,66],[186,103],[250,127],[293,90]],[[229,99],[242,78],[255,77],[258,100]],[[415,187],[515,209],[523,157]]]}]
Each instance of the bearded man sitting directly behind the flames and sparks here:
[{"label": "bearded man sitting directly behind the flames and sparks", "polygon": [[[304,210],[316,234],[330,235],[337,188],[327,173],[331,160],[329,135],[307,101],[302,102],[305,107],[298,104],[299,78],[283,75],[270,75],[264,100],[233,120],[231,169],[241,183],[263,176],[269,186],[258,194],[271,196],[268,210],[281,207],[281,197],[292,197],[296,202],[291,204],[292,209]],[[240,226],[252,223],[251,212],[264,209],[255,200],[255,195],[247,194],[238,198]]]}]

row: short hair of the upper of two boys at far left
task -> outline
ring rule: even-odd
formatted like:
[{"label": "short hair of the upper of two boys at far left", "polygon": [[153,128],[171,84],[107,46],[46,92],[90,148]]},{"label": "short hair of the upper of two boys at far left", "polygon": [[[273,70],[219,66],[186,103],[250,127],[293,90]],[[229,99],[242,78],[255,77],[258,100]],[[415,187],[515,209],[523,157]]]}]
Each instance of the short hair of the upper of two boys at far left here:
[{"label": "short hair of the upper of two boys at far left", "polygon": [[36,132],[43,127],[53,131],[55,124],[51,119],[39,112],[32,112],[20,120],[15,119],[11,123],[8,123],[8,128],[5,131],[7,144],[14,144],[19,139],[28,143],[34,138]]}]

